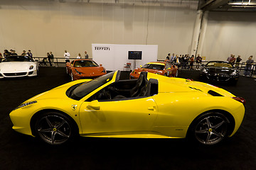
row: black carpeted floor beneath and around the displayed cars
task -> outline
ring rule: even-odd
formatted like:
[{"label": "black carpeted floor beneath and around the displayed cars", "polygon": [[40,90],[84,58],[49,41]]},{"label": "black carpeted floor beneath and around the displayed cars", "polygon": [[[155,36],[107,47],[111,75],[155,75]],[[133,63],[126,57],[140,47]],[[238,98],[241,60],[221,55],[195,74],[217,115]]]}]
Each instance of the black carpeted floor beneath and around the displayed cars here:
[{"label": "black carpeted floor beneath and around the displayed cars", "polygon": [[[68,145],[50,146],[12,130],[9,118],[23,101],[70,81],[63,67],[41,67],[39,72],[39,77],[0,79],[0,169],[255,169],[256,81],[250,77],[240,77],[235,86],[217,84],[247,100],[240,129],[220,145],[79,137]],[[180,71],[179,77],[198,80],[198,74]]]}]

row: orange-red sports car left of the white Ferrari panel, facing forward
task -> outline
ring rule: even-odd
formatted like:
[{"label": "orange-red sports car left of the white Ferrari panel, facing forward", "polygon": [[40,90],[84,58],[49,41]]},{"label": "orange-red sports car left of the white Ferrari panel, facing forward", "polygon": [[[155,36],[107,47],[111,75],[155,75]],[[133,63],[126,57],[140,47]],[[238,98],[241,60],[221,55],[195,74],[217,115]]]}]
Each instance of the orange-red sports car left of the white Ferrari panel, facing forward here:
[{"label": "orange-red sports car left of the white Ferrari panel, facing forward", "polygon": [[73,60],[66,63],[67,74],[73,80],[77,79],[95,79],[104,74],[107,74],[106,69],[100,66],[93,60]]}]

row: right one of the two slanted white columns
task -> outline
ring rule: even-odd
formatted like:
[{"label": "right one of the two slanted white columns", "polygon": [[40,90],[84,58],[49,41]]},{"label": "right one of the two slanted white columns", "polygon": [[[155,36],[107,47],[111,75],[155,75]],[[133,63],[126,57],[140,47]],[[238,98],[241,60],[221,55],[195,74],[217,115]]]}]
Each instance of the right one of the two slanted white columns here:
[{"label": "right one of the two slanted white columns", "polygon": [[[199,35],[199,42],[198,42],[198,49],[196,51],[197,54],[202,54],[203,50],[203,41],[206,36],[206,28],[207,28],[207,23],[208,23],[208,13],[209,11],[204,11],[203,12],[203,21],[201,24],[201,31]],[[202,55],[201,55],[202,56]]]}]

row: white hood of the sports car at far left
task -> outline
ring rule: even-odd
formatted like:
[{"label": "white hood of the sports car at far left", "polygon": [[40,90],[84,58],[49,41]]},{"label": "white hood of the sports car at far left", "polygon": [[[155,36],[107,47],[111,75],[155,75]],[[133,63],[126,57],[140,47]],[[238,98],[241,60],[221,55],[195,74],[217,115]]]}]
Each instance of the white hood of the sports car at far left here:
[{"label": "white hood of the sports car at far left", "polygon": [[1,62],[0,69],[1,72],[22,72],[28,70],[31,65],[36,67],[34,62]]}]

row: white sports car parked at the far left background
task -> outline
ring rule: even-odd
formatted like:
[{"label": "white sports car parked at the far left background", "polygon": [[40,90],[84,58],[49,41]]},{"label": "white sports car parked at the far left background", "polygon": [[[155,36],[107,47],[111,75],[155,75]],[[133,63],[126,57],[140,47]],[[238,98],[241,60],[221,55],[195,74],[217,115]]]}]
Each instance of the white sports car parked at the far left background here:
[{"label": "white sports car parked at the far left background", "polygon": [[28,56],[9,56],[0,62],[0,79],[4,77],[34,77],[38,75],[38,62]]}]

